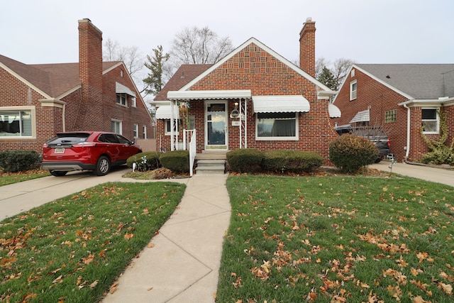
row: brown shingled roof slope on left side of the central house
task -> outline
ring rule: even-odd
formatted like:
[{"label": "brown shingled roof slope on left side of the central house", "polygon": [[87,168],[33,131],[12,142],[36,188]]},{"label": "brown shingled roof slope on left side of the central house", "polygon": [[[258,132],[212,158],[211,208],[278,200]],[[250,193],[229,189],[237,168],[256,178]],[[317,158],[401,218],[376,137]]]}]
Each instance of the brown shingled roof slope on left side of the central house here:
[{"label": "brown shingled roof slope on left side of the central house", "polygon": [[212,64],[184,64],[179,67],[177,72],[169,79],[167,84],[156,95],[154,101],[167,100],[167,92],[176,91],[182,88],[185,84],[192,81],[195,77],[211,67]]}]

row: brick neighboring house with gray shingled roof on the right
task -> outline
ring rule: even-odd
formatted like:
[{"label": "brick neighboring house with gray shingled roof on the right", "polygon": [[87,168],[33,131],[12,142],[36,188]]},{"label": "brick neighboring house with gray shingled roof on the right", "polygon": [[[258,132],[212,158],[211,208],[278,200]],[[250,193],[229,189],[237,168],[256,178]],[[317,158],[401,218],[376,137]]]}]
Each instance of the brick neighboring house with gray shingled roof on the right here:
[{"label": "brick neighboring house with gray shingled roof on the right", "polygon": [[454,64],[355,64],[334,99],[346,124],[382,126],[394,158],[418,161],[428,152],[421,136],[438,138],[448,114],[448,142],[454,136]]}]

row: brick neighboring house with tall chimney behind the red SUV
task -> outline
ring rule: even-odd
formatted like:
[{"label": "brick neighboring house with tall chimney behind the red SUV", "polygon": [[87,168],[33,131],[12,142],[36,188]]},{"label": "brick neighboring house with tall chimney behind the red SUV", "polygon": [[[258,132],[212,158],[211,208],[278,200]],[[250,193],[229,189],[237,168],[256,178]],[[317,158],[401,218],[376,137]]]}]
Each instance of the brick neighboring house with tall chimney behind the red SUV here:
[{"label": "brick neighboring house with tall chimney behind the red SUV", "polygon": [[79,63],[26,65],[0,55],[0,150],[36,150],[62,131],[153,135],[123,62],[102,61],[102,33],[79,20]]}]

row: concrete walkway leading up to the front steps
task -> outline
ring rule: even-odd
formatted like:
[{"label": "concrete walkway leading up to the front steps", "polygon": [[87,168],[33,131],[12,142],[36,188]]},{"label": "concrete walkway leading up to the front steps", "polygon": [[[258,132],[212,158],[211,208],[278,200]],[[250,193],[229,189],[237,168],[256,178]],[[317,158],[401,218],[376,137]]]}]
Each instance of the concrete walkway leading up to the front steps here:
[{"label": "concrete walkway leading up to the front steps", "polygon": [[[214,302],[231,205],[226,175],[194,175],[179,208],[118,278],[111,302]],[[167,180],[165,180],[167,181]]]}]

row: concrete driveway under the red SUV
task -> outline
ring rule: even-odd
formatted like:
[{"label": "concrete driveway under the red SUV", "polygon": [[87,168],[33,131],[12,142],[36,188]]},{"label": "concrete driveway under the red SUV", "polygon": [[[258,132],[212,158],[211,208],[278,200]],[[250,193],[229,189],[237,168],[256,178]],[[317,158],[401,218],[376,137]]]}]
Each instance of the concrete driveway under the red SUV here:
[{"label": "concrete driveway under the red SUV", "polygon": [[130,171],[126,166],[114,167],[105,176],[92,172],[69,172],[63,177],[42,177],[0,187],[0,220],[28,211],[55,199],[105,182],[123,181],[122,175]]}]

